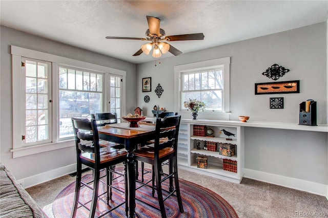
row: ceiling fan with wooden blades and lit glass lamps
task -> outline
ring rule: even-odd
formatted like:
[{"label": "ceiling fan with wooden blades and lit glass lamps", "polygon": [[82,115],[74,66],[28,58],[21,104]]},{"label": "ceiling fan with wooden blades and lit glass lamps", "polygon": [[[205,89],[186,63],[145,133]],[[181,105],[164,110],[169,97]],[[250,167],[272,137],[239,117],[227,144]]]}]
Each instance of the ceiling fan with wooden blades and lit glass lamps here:
[{"label": "ceiling fan with wooden blades and lit glass lamps", "polygon": [[165,31],[159,28],[160,19],[157,17],[147,16],[149,29],[146,31],[146,38],[135,38],[135,37],[116,37],[107,36],[107,39],[135,39],[143,41],[151,41],[145,45],[141,46],[133,56],[138,56],[142,53],[149,54],[153,50],[153,57],[158,58],[162,54],[170,52],[175,56],[182,54],[181,51],[171,46],[166,41],[183,41],[183,40],[203,40],[203,33],[193,33],[193,34],[183,34],[183,35],[173,35],[166,36]]}]

